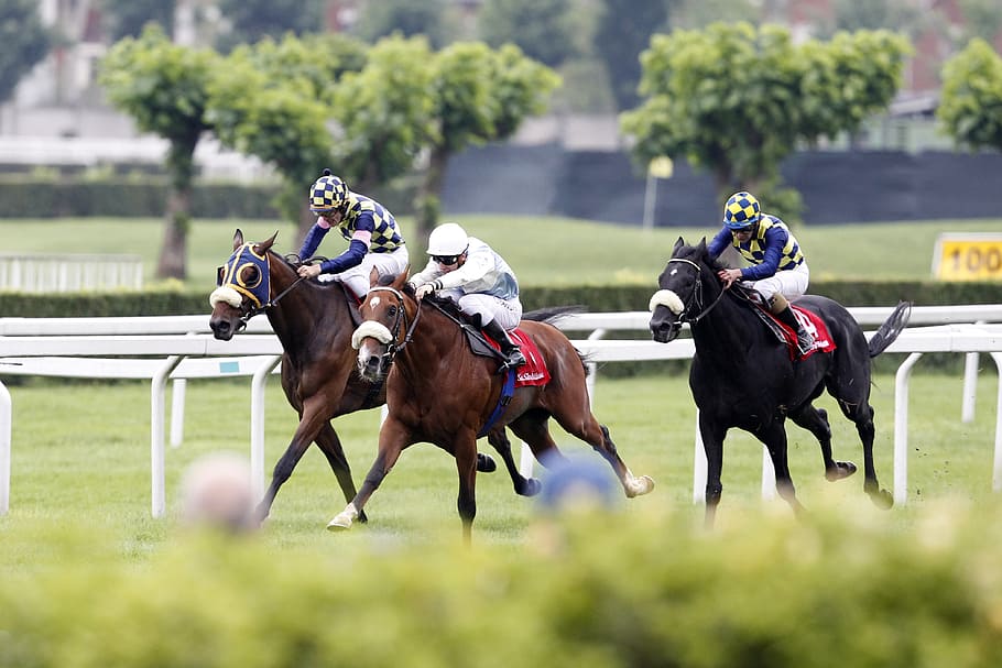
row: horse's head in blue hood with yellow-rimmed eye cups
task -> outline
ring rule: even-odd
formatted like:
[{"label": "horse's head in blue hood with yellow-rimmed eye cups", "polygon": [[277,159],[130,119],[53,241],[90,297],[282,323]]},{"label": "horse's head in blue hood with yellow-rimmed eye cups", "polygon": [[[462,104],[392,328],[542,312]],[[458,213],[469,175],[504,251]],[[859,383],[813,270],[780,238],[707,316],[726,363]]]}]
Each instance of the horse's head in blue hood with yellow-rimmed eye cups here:
[{"label": "horse's head in blue hood with yellow-rimmed eye cups", "polygon": [[209,295],[213,307],[209,327],[217,339],[232,339],[268,304],[271,296],[268,251],[277,234],[259,243],[244,243],[239,229],[233,234],[233,254],[216,270],[216,289]]}]

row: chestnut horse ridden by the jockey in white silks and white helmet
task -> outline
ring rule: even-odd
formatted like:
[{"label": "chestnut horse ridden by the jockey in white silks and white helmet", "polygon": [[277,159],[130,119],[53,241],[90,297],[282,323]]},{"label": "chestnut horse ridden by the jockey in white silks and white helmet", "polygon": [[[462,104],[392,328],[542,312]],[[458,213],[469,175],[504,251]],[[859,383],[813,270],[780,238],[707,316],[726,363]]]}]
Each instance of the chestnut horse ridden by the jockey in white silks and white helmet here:
[{"label": "chestnut horse ridden by the jockey in white silks and white helmet", "polygon": [[[351,340],[358,349],[358,370],[373,383],[385,379],[389,414],[379,431],[375,461],[359,493],[328,528],[349,528],[400,453],[413,443],[429,442],[456,458],[458,510],[464,538],[469,541],[477,515],[477,435],[499,406],[505,374],[498,373],[497,360],[470,350],[465,330],[455,315],[447,314],[446,306],[428,298],[418,302],[406,277],[401,274],[384,281],[388,285],[378,285],[373,273],[372,287],[359,307],[364,322]],[[553,309],[551,315],[560,313]],[[507,447],[507,426],[541,463],[552,463],[551,458],[560,457],[547,425],[553,417],[609,462],[628,497],[646,494],[654,481],[630,472],[609,430],[591,414],[580,354],[560,330],[545,321],[545,314],[526,314],[520,327],[538,348],[551,380],[542,386],[514,387],[510,403],[491,423],[490,442]],[[542,321],[529,319],[533,317]]]}]

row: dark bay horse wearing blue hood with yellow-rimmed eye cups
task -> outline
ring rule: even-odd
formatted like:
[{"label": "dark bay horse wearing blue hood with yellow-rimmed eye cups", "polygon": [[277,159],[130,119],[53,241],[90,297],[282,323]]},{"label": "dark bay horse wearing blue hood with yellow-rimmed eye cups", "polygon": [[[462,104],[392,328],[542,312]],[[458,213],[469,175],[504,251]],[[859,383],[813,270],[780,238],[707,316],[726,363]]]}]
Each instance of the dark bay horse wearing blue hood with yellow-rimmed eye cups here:
[{"label": "dark bay horse wearing blue hood with yellow-rimmed eye cups", "polygon": [[[330,420],[364,408],[382,406],[382,381],[355,373],[351,332],[361,322],[353,295],[341,283],[303,281],[296,266],[272,251],[277,232],[259,243],[244,243],[239,229],[233,253],[219,267],[217,288],[209,297],[213,335],[229,341],[253,316],[264,313],[282,342],[282,390],[299,415],[288,447],[275,464],[271,484],[258,505],[258,518],[271,511],[279,488],[288,480],[311,442],[327,458],[345,500],[356,495],[351,469]],[[478,455],[481,471],[493,460]],[[511,470],[511,469],[510,469]],[[516,485],[518,489],[518,485]],[[531,491],[531,490],[530,490]],[[359,518],[364,522],[364,516]]]}]

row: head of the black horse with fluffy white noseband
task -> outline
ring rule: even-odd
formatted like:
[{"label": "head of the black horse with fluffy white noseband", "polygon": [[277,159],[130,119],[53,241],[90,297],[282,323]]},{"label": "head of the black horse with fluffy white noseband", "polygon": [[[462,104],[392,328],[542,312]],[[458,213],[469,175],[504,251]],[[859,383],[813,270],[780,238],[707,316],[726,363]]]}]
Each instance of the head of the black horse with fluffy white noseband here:
[{"label": "head of the black horse with fluffy white noseband", "polygon": [[[657,277],[658,291],[651,297],[651,336],[660,343],[674,340],[683,322],[698,318],[704,309],[703,271],[707,267],[706,238],[687,245],[682,237]],[[709,271],[709,270],[707,270]]]}]

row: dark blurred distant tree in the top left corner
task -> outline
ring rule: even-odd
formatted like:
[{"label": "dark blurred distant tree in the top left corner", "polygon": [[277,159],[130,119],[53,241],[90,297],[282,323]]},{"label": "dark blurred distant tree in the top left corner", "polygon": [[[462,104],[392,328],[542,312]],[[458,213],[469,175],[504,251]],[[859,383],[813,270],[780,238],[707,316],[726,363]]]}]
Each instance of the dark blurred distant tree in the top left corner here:
[{"label": "dark blurred distant tree in the top left corner", "polygon": [[34,0],[0,0],[0,102],[6,102],[21,78],[48,54],[55,39],[42,25]]}]

